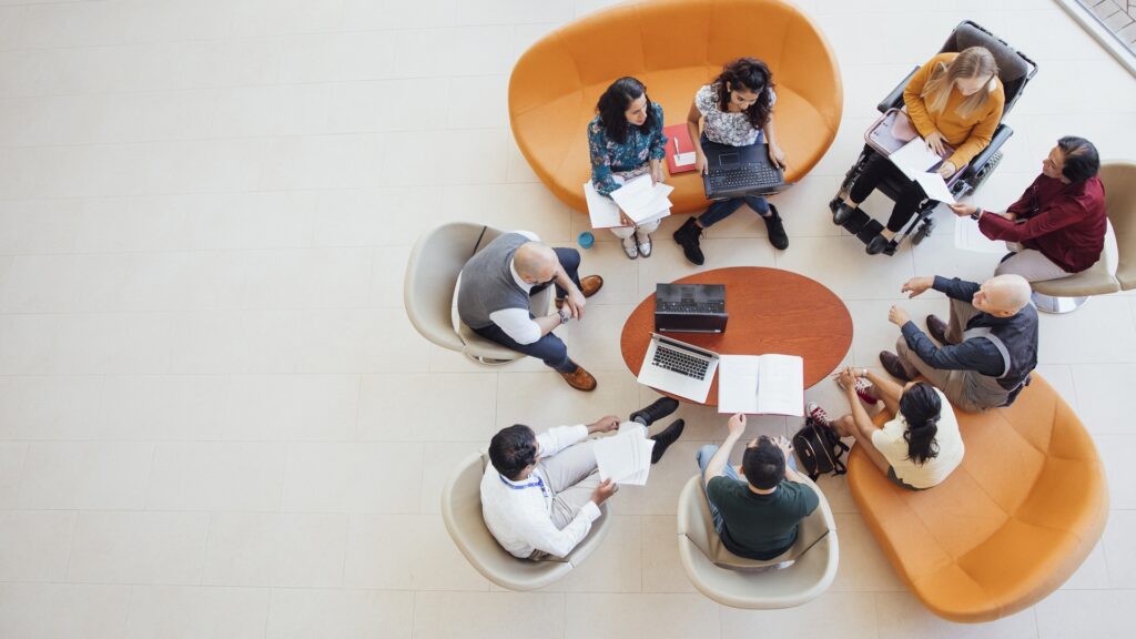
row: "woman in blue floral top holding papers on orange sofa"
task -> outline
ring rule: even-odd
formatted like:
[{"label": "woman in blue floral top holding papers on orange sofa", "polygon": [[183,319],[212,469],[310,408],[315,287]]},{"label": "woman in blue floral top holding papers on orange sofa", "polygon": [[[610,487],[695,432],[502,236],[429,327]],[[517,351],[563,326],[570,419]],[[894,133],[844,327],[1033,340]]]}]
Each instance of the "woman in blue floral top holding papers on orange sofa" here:
[{"label": "woman in blue floral top holding papers on orange sofa", "polygon": [[[587,124],[587,150],[592,156],[592,185],[601,196],[645,173],[662,182],[667,136],[662,134],[662,107],[646,97],[646,86],[634,77],[620,77],[600,96],[598,115]],[[624,252],[635,259],[651,257],[651,233],[659,221],[636,226],[619,214],[627,226],[611,230],[623,240]]]}]

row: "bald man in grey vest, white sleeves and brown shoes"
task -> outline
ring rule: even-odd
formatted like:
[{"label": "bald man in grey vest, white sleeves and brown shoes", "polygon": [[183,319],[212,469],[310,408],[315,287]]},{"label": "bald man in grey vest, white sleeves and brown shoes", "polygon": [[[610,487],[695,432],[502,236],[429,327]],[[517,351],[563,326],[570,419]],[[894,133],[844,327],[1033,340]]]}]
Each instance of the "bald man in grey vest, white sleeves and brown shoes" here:
[{"label": "bald man in grey vest, white sleeves and brown shoes", "polygon": [[[483,338],[542,359],[568,385],[595,390],[595,377],[568,357],[568,347],[552,331],[584,318],[585,298],[603,279],[579,279],[579,251],[553,249],[533,233],[504,233],[469,258],[458,287],[458,315]],[[528,298],[549,285],[557,289],[557,312],[536,317]]]}]

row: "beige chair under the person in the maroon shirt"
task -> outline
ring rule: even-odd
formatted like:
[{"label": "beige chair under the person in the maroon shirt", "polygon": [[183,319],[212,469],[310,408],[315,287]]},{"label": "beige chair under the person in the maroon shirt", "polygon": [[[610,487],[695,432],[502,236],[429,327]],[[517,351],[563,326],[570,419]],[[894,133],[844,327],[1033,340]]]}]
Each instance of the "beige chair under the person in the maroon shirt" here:
[{"label": "beige chair under the person in the maroon shirt", "polygon": [[[1101,165],[1104,208],[1117,240],[1117,255],[1109,242],[1101,259],[1087,271],[1069,277],[1034,282],[1034,304],[1046,313],[1069,313],[1089,296],[1136,288],[1136,164],[1106,161]],[[1112,264],[1117,264],[1116,273]]]}]

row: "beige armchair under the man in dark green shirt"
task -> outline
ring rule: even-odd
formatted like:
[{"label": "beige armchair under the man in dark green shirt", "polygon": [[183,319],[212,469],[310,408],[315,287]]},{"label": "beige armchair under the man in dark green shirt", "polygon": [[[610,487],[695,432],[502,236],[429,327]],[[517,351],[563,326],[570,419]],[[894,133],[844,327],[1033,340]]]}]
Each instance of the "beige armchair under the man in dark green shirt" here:
[{"label": "beige armchair under the man in dark green shirt", "polygon": [[[678,555],[700,592],[734,608],[770,609],[800,606],[832,586],[840,558],[836,522],[825,495],[808,478],[804,481],[817,491],[820,505],[801,521],[796,543],[768,562],[726,550],[713,529],[702,476],[686,482],[678,497]],[[787,559],[793,564],[776,567]]]}]

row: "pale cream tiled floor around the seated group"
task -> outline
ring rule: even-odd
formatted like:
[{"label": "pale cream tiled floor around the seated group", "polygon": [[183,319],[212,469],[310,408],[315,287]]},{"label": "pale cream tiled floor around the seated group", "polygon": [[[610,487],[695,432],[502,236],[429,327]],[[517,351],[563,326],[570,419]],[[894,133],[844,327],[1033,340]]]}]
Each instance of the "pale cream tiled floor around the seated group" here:
[{"label": "pale cream tiled floor around the seated group", "polygon": [[[600,380],[592,396],[532,360],[484,368],[434,348],[401,308],[409,247],[438,222],[556,243],[582,229],[517,151],[504,90],[525,47],[604,3],[0,0],[0,637],[1130,636],[1131,296],[1043,318],[1041,371],[1096,437],[1114,509],[1085,566],[1033,609],[984,626],[928,614],[841,479],[822,482],[841,526],[829,594],[780,612],[710,603],[678,563],[674,517],[722,420],[688,407],[687,435],[649,487],[616,498],[611,537],[569,579],[509,594],[466,564],[438,515],[451,465],[513,422],[650,401],[616,355],[623,318],[692,271],[676,221],[637,263],[600,235],[585,264],[608,284],[565,331]],[[1061,134],[1133,157],[1136,82],[1047,0],[802,3],[842,61],[843,126],[778,197],[792,247],[772,251],[736,215],[709,233],[707,268],[827,283],[855,322],[846,362],[875,366],[902,281],[993,263],[957,252],[945,217],[891,259],[825,218],[879,97],[964,18],[1033,56],[1041,73],[978,197],[997,207]]]}]

